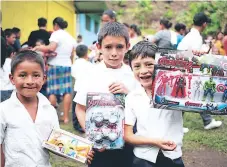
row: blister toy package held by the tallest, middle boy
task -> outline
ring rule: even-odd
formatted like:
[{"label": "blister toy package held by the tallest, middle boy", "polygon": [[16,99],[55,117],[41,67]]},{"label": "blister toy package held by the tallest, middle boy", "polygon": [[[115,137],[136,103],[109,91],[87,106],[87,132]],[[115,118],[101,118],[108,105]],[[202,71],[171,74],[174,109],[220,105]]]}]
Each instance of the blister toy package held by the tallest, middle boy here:
[{"label": "blister toy package held by the tallest, middle boy", "polygon": [[88,93],[86,134],[94,148],[121,149],[124,146],[125,95]]}]

